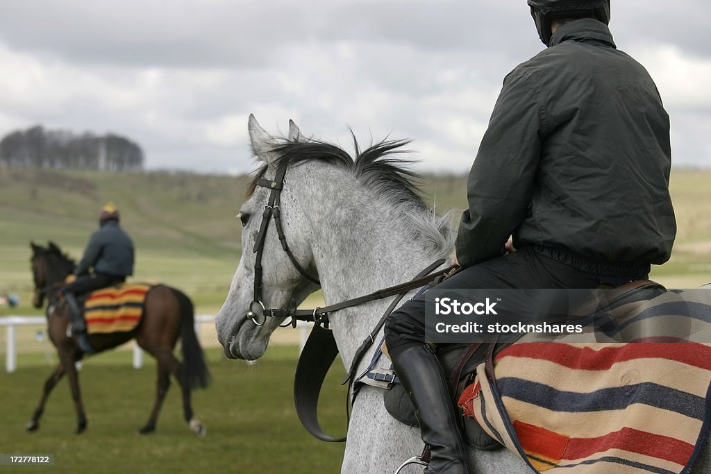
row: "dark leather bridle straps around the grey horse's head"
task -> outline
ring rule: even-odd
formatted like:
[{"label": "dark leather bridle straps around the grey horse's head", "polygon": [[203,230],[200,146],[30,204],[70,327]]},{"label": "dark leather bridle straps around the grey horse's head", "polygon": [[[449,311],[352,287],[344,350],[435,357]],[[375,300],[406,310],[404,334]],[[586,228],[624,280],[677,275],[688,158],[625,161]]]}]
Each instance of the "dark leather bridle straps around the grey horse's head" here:
[{"label": "dark leather bridle straps around the grey horse's head", "polygon": [[[296,270],[298,270],[304,278],[311,281],[311,283],[321,286],[319,279],[309,275],[306,270],[304,270],[304,267],[301,266],[301,264],[299,264],[296,260],[296,257],[294,257],[294,254],[292,253],[292,249],[289,249],[289,244],[287,244],[287,236],[284,235],[282,212],[279,205],[281,204],[282,189],[284,188],[284,175],[287,173],[287,166],[289,166],[289,161],[282,160],[277,166],[277,173],[273,180],[264,178],[259,178],[257,180],[257,186],[271,190],[271,193],[269,193],[269,201],[267,202],[267,206],[264,208],[264,212],[262,213],[260,232],[257,234],[255,247],[252,248],[252,253],[257,254],[255,257],[255,289],[249,311],[247,311],[247,318],[251,319],[252,323],[255,323],[258,326],[264,325],[267,321],[267,314],[269,316],[281,316],[281,314],[277,313],[283,313],[284,311],[279,311],[279,308],[270,308],[267,310],[267,308],[264,307],[264,303],[262,303],[262,254],[264,253],[264,242],[267,239],[267,229],[269,228],[269,219],[271,217],[274,217],[274,226],[277,227],[277,235],[279,236],[279,242],[282,244],[282,249],[284,252],[287,252],[287,257],[289,257],[289,260],[292,261],[292,264]],[[264,319],[262,319],[261,322],[257,319],[257,313],[255,313],[255,310],[262,311]],[[294,323],[295,322],[296,321],[294,321]]]}]

